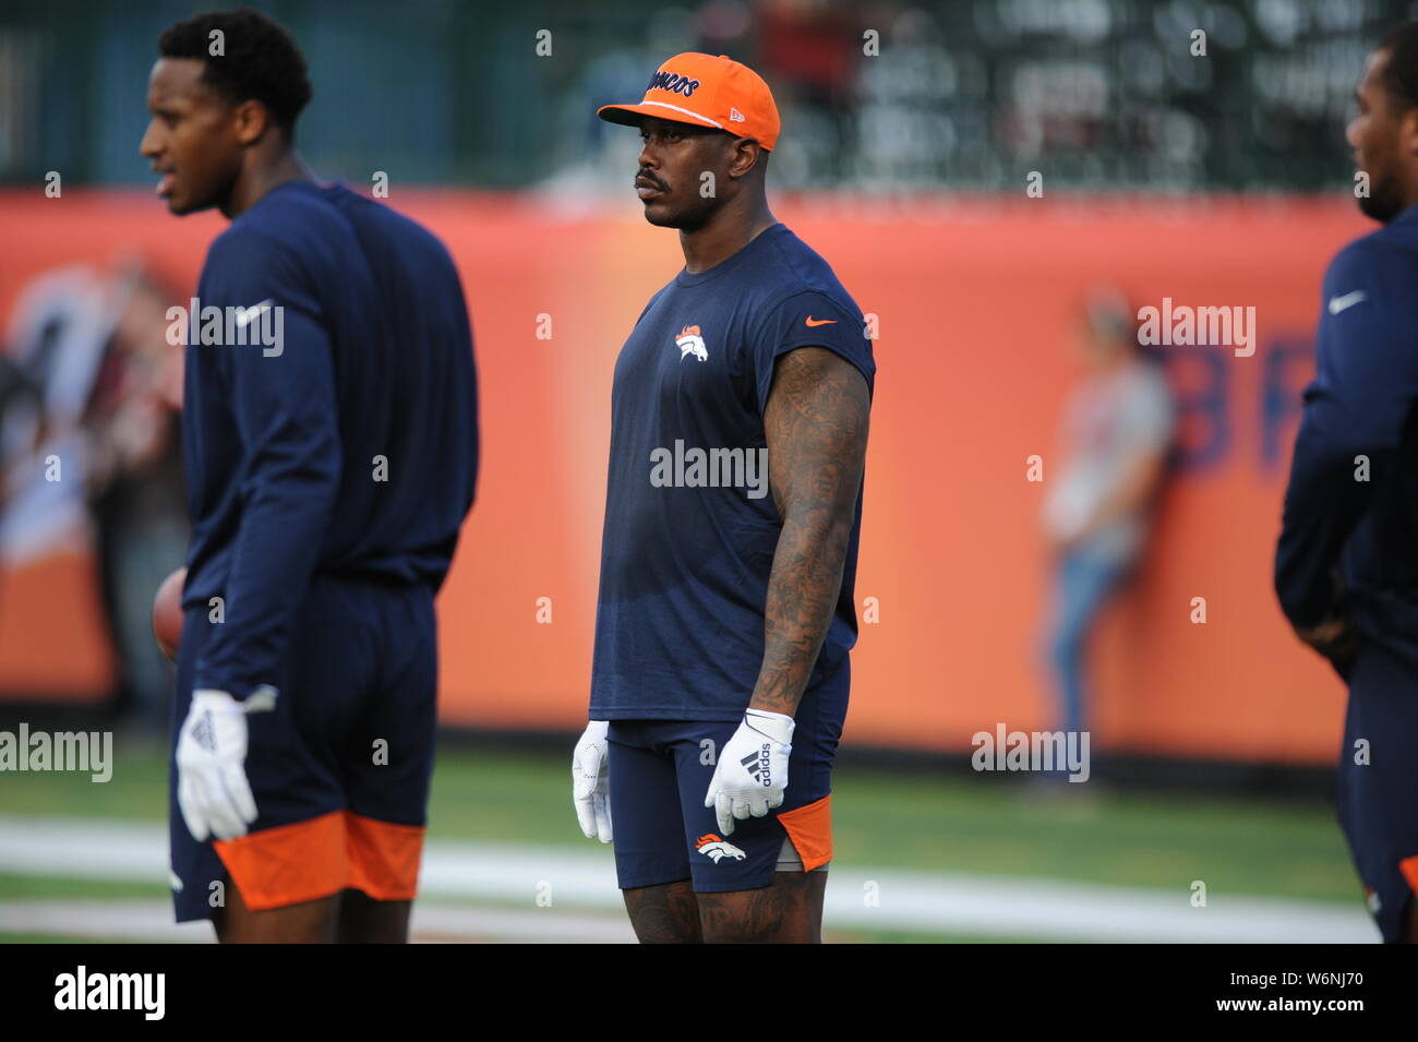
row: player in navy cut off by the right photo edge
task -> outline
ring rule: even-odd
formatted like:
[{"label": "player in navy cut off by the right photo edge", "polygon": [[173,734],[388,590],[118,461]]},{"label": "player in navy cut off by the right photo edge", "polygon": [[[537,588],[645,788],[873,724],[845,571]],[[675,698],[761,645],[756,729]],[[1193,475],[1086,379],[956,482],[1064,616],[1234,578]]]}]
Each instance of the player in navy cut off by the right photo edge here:
[{"label": "player in navy cut off by the right photo edge", "polygon": [[1368,60],[1349,126],[1384,227],[1324,275],[1275,587],[1349,683],[1339,815],[1385,941],[1418,939],[1418,23]]}]

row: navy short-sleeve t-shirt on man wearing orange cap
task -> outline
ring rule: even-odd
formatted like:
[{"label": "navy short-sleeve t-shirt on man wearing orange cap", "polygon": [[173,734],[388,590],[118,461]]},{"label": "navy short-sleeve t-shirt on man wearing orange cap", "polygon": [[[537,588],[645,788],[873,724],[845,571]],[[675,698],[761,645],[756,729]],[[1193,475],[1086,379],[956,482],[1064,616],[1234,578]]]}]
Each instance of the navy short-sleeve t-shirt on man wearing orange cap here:
[{"label": "navy short-sleeve t-shirt on man wearing orange cap", "polygon": [[[778,357],[827,347],[872,387],[862,313],[783,224],[655,293],[615,363],[590,716],[737,720],[763,665],[769,573],[783,519],[763,410]],[[842,591],[811,689],[856,642]]]}]

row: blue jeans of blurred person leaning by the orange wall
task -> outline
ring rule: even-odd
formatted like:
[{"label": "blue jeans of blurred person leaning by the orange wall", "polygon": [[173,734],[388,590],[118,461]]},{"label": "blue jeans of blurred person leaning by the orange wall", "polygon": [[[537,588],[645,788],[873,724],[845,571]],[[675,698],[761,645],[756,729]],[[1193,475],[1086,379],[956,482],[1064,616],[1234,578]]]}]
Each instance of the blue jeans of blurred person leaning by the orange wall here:
[{"label": "blue jeans of blurred person leaning by the orange wall", "polygon": [[[1066,550],[1055,566],[1048,659],[1068,732],[1088,729],[1088,637],[1103,605],[1127,577],[1129,566],[1130,560],[1088,544]],[[1066,771],[1052,774],[1064,775]]]}]

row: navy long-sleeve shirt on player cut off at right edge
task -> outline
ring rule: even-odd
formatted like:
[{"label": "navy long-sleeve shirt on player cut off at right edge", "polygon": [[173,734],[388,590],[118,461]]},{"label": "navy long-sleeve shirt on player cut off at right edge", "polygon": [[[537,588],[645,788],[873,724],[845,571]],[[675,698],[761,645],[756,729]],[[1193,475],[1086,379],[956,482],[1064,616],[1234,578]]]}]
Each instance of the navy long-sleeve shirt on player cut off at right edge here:
[{"label": "navy long-sleeve shirt on player cut off at right edge", "polygon": [[1322,309],[1275,588],[1296,627],[1418,654],[1418,207],[1340,251]]}]

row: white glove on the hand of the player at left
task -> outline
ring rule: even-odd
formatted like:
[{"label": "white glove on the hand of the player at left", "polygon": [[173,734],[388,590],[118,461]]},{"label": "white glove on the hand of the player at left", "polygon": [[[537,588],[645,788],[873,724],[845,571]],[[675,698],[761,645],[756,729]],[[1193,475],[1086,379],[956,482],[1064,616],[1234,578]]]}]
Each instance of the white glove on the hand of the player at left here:
[{"label": "white glove on the hand of the player at left", "polygon": [[177,807],[197,842],[235,839],[257,819],[245,760],[242,703],[224,690],[193,692],[177,736]]}]

